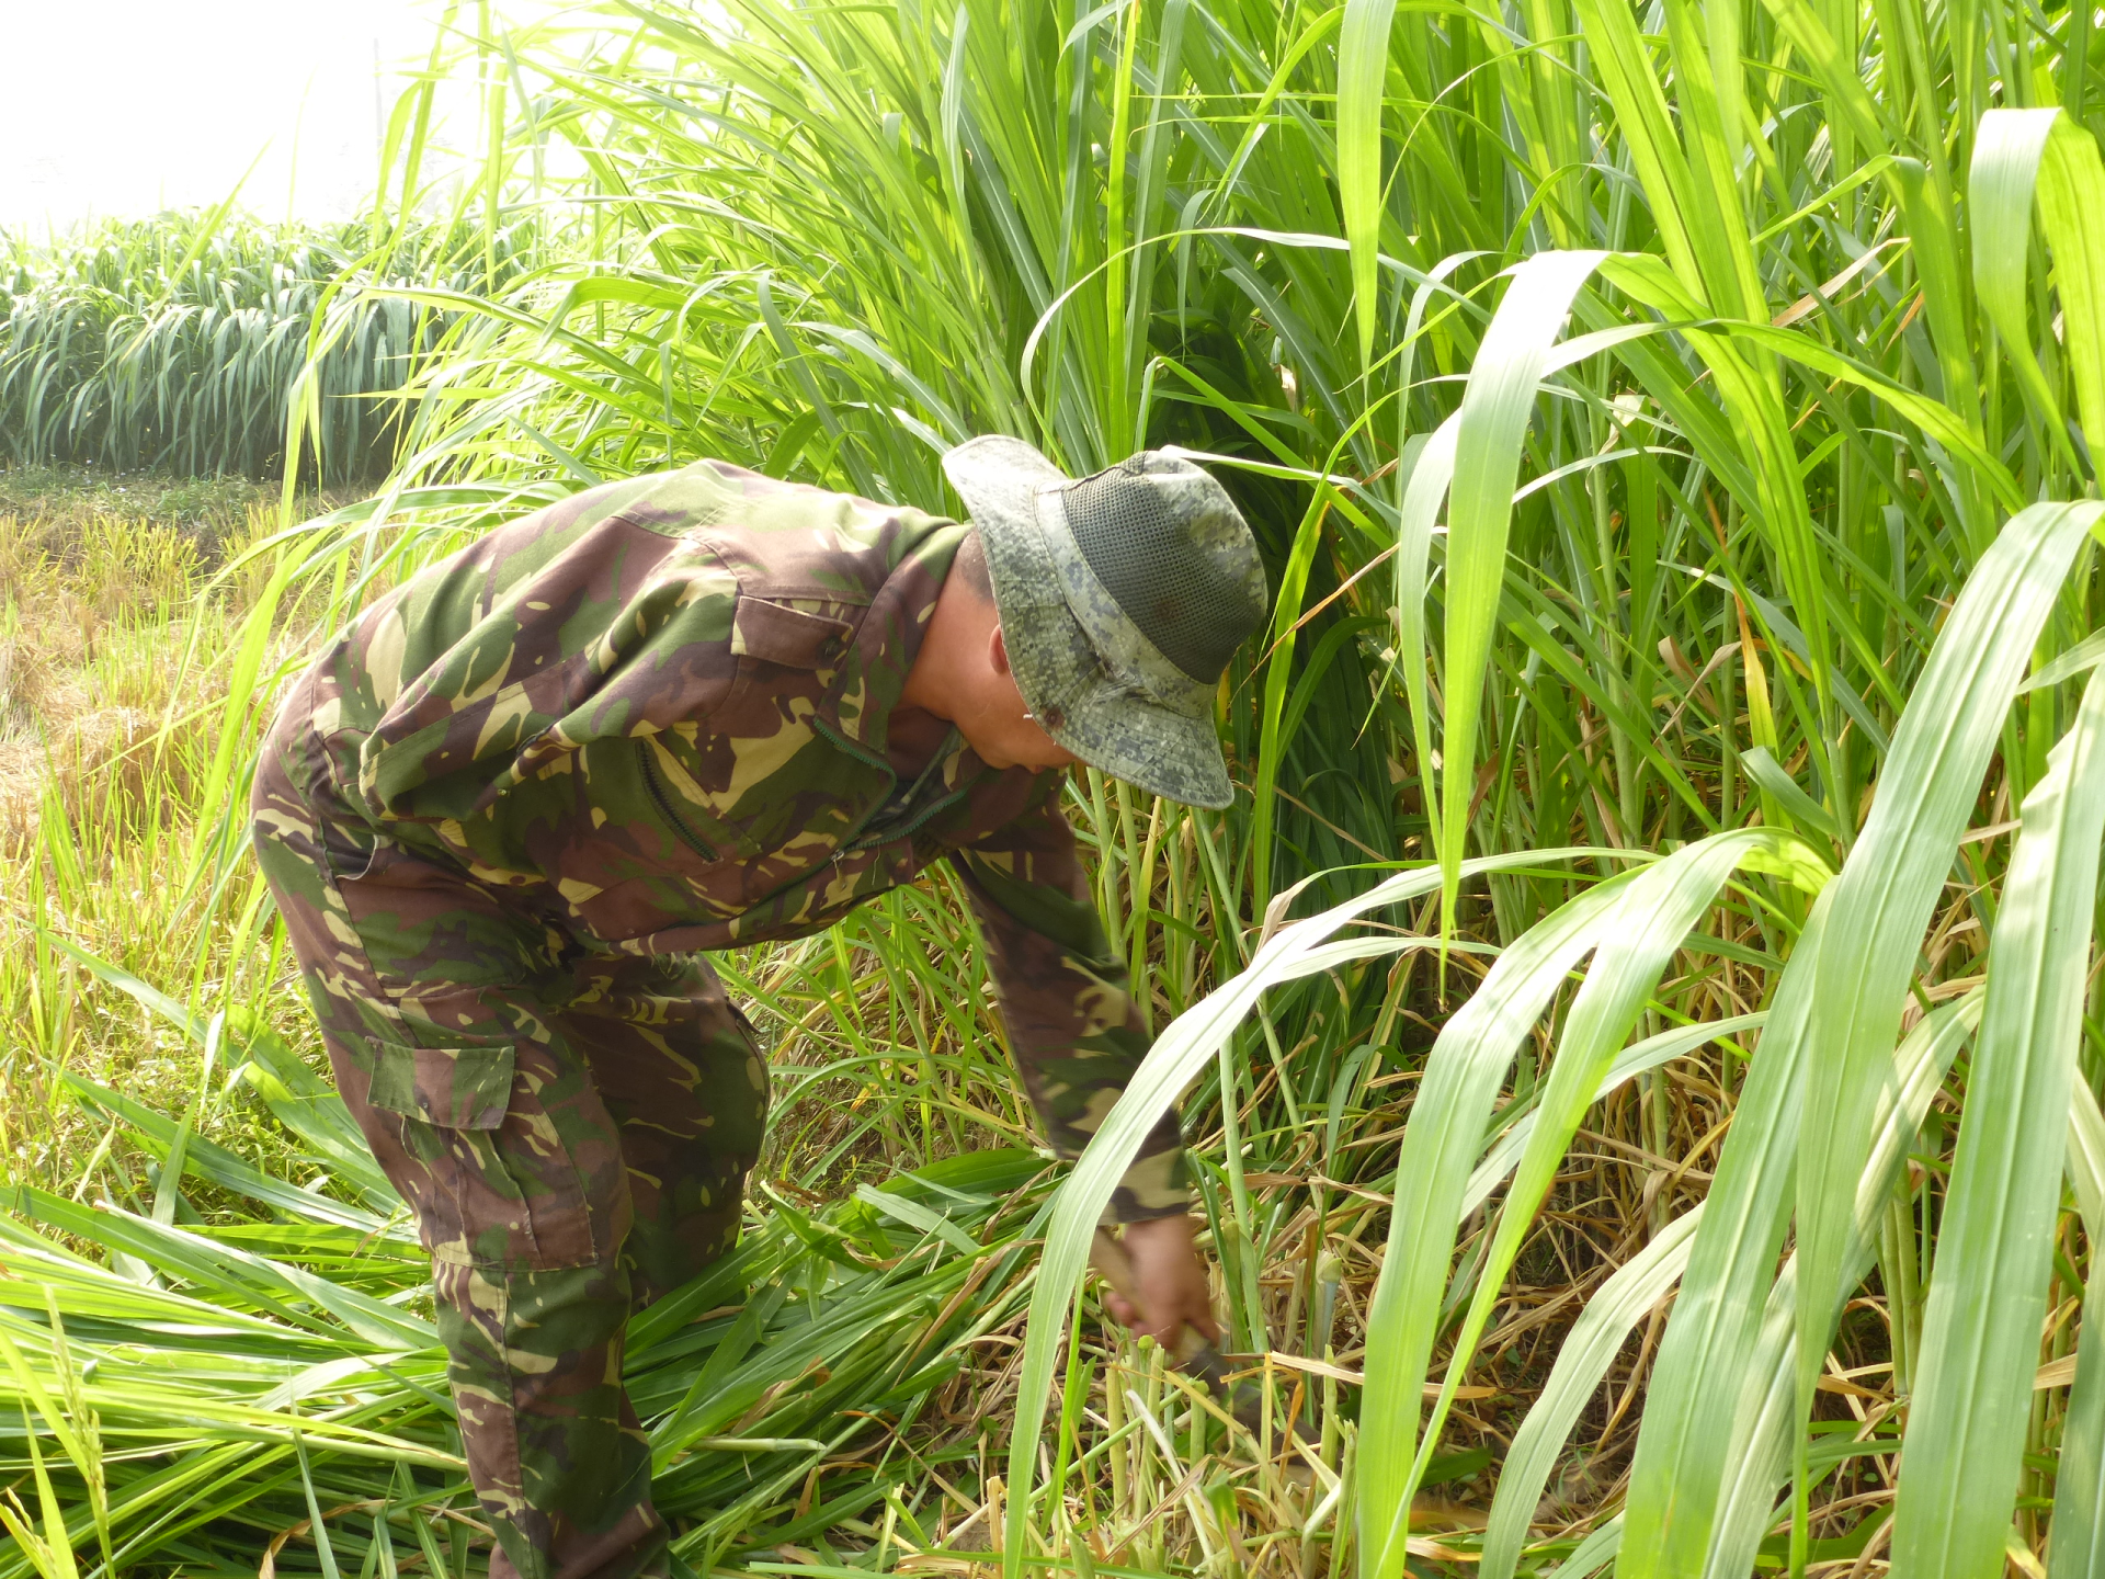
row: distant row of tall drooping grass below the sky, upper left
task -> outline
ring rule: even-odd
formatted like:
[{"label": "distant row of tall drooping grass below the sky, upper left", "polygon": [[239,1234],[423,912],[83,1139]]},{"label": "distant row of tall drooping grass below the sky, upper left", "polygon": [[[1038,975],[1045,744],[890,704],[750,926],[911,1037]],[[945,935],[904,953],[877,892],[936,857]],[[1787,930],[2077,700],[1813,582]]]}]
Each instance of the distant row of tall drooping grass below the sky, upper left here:
[{"label": "distant row of tall drooping grass below the sky, upper left", "polygon": [[[446,221],[263,225],[229,208],[0,236],[0,459],[276,478],[305,377],[320,421],[297,467],[324,486],[373,480],[396,459],[387,396],[446,324],[364,288],[472,291],[493,278],[484,240]],[[507,225],[495,274],[528,244]]]}]

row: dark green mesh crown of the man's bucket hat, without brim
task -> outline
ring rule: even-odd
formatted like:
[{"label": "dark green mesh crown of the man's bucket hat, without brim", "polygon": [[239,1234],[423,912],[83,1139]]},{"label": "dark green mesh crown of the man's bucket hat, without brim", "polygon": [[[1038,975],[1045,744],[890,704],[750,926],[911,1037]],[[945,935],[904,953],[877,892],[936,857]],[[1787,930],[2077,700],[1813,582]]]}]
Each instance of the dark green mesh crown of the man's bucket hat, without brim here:
[{"label": "dark green mesh crown of the man's bucket hat, without brim", "polygon": [[1265,617],[1263,602],[1250,602],[1248,566],[1257,560],[1257,543],[1240,516],[1240,531],[1231,533],[1240,552],[1202,541],[1221,537],[1219,528],[1194,533],[1204,516],[1234,512],[1219,484],[1162,491],[1145,480],[1147,469],[1132,457],[1067,484],[1067,526],[1088,568],[1141,636],[1194,680],[1219,680]]}]

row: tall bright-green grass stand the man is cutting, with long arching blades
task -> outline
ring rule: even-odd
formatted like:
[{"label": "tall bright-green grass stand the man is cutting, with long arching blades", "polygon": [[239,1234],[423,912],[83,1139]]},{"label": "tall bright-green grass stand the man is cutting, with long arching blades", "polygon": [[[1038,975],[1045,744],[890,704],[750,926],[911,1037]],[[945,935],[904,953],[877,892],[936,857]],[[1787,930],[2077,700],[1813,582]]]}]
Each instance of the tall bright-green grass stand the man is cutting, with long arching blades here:
[{"label": "tall bright-green grass stand the man is cutting, with long arching blades", "polygon": [[[280,585],[328,623],[507,509],[697,455],[926,505],[985,429],[1074,472],[1210,457],[1278,613],[1223,693],[1236,806],[1076,785],[1162,1038],[1025,1234],[1015,1368],[970,1373],[1015,1421],[968,1497],[1008,1573],[2097,1573],[2090,21],[484,25],[450,61],[505,128],[480,189],[577,217],[490,299],[394,291],[457,314],[402,465]],[[575,181],[535,175],[556,141]],[[200,893],[240,872],[234,802],[204,798]],[[935,886],[741,966],[876,1107],[796,1131],[785,1183],[1021,1118],[966,966],[930,964],[962,943]],[[1074,1324],[1122,1147],[1187,1086],[1231,1345],[1269,1356],[1255,1442]],[[55,1493],[82,1552],[91,1503]],[[703,1528],[682,1552],[796,1539]],[[884,1568],[901,1528],[819,1564]]]}]

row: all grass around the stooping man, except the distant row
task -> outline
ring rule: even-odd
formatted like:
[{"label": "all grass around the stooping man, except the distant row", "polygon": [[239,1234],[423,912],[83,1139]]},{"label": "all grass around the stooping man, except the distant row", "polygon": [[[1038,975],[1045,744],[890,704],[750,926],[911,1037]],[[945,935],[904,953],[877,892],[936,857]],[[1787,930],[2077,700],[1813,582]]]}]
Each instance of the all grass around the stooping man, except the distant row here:
[{"label": "all grass around the stooping man, except the distant row", "polygon": [[[387,484],[0,537],[0,1571],[480,1564],[232,817],[299,655],[600,478],[941,507],[1004,429],[1238,493],[1238,800],[1074,781],[1160,1040],[1071,1171],[945,882],[726,958],[764,1179],[629,1375],[682,1558],[2105,1573],[2094,15],[448,15],[463,223],[541,229],[375,284],[444,324]],[[1074,1314],[1179,1091],[1255,1434]]]}]

